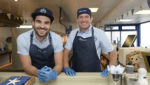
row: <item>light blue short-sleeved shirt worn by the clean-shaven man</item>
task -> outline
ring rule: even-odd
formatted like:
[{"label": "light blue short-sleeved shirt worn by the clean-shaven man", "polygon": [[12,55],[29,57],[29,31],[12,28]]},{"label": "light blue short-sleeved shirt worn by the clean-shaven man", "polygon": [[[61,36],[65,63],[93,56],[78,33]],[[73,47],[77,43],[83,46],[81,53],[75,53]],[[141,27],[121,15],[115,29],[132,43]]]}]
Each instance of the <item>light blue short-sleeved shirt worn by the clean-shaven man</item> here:
[{"label": "light blue short-sleeved shirt worn by the clean-shaven man", "polygon": [[[103,30],[98,29],[96,27],[93,27],[93,29],[94,29],[95,47],[97,50],[97,55],[100,58],[101,50],[104,52],[111,52],[114,50],[114,47],[109,42]],[[77,31],[78,31],[77,36],[81,36],[83,38],[90,37],[92,36],[92,25],[85,32],[81,32],[80,28],[77,28],[70,33],[69,38],[65,45],[65,48],[67,48],[68,50],[71,50],[73,47],[73,41],[74,41]]]}]

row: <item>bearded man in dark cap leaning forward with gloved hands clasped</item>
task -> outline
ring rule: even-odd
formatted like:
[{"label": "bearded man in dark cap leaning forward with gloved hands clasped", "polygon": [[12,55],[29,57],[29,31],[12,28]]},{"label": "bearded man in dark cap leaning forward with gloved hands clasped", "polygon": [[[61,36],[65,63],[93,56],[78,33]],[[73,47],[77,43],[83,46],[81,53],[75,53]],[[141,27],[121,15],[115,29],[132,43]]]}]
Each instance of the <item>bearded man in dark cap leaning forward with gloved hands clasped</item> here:
[{"label": "bearded man in dark cap leaning forward with gloved hands clasped", "polygon": [[43,82],[56,80],[63,66],[63,43],[59,35],[50,32],[53,14],[47,8],[38,8],[32,18],[33,29],[17,38],[23,69]]}]

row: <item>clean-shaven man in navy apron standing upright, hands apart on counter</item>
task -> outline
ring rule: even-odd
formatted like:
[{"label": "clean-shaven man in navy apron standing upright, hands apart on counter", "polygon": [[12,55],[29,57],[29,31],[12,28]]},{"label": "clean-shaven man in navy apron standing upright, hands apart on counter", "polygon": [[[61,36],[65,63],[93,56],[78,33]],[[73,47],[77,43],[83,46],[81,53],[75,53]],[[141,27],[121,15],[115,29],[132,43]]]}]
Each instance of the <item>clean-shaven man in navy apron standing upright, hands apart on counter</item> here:
[{"label": "clean-shaven man in navy apron standing upright, hands apart on counter", "polygon": [[[73,30],[64,48],[64,69],[66,75],[75,76],[76,72],[100,72],[100,52],[110,54],[110,65],[116,64],[116,51],[101,29],[91,25],[93,18],[89,8],[77,11],[79,27]],[[73,50],[69,66],[68,54]]]}]

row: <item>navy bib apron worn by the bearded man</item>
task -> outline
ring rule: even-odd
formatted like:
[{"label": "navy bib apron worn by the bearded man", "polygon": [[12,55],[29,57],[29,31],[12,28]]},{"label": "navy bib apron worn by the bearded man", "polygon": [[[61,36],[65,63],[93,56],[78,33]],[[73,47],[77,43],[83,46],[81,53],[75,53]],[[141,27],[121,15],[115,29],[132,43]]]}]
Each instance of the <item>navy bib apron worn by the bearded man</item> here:
[{"label": "navy bib apron worn by the bearded man", "polygon": [[51,68],[55,66],[54,49],[52,46],[50,33],[48,37],[50,44],[47,47],[41,49],[33,44],[33,32],[31,34],[29,54],[31,56],[32,65],[38,69],[41,69],[44,66],[48,66]]}]

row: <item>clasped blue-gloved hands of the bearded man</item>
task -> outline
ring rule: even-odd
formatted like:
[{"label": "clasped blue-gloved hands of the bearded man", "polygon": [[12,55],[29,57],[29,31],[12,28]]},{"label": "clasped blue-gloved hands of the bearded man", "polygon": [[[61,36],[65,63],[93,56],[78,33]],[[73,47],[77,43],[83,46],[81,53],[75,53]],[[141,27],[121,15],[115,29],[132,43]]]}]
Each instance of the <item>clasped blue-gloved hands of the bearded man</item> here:
[{"label": "clasped blue-gloved hands of the bearded man", "polygon": [[38,78],[42,82],[48,82],[49,80],[57,79],[57,72],[50,67],[44,66],[38,70]]}]

